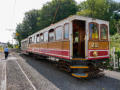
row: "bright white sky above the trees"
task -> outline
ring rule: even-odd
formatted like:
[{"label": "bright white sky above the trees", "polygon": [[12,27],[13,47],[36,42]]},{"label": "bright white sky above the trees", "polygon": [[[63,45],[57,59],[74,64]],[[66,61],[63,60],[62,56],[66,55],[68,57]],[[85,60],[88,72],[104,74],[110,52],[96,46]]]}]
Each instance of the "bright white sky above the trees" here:
[{"label": "bright white sky above the trees", "polygon": [[[11,42],[17,24],[21,23],[24,13],[32,9],[40,9],[43,4],[52,0],[2,0],[0,2],[0,42]],[[80,3],[84,0],[75,0]],[[119,1],[120,0],[116,0]]]}]

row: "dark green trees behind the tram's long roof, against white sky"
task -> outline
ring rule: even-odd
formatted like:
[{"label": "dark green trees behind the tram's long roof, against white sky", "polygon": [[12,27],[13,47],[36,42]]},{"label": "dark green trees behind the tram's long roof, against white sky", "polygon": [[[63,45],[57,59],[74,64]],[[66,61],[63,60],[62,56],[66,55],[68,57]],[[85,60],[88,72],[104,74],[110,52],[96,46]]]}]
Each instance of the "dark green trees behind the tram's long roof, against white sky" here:
[{"label": "dark green trees behind the tram's long roof, against white sky", "polygon": [[23,22],[16,27],[15,39],[19,42],[27,36],[56,23],[77,12],[75,0],[52,0],[46,3],[40,10],[31,10],[25,13]]}]

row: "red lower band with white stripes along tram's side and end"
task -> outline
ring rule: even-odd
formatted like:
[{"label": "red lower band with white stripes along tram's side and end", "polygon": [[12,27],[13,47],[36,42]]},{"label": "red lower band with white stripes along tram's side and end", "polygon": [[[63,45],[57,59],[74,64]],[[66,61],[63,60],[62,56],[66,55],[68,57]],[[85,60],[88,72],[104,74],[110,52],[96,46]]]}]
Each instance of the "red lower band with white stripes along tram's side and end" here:
[{"label": "red lower band with white stripes along tram's side and end", "polygon": [[[93,52],[97,52],[97,56],[94,57]],[[29,48],[27,52],[43,54],[48,56],[59,57],[63,59],[70,59],[69,50],[56,50],[56,49],[44,49],[44,48]],[[97,60],[109,58],[109,50],[88,50],[87,60]]]}]

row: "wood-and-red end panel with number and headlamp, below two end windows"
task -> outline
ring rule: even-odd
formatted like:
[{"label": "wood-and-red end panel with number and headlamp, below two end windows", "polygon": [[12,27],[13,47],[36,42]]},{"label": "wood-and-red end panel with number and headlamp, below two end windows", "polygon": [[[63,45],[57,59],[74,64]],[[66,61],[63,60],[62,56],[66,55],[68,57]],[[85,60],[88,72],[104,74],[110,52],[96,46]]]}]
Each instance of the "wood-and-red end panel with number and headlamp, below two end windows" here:
[{"label": "wood-and-red end panel with number and headlamp, below two end windows", "polygon": [[88,60],[109,58],[109,41],[89,41]]}]

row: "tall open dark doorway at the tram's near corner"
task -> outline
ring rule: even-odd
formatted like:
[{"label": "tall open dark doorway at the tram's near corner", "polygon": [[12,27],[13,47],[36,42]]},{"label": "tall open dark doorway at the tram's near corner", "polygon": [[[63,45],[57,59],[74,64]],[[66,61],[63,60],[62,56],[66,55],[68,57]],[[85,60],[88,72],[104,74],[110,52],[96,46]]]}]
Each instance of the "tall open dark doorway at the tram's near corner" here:
[{"label": "tall open dark doorway at the tram's near corner", "polygon": [[85,21],[73,21],[73,57],[85,57]]}]

